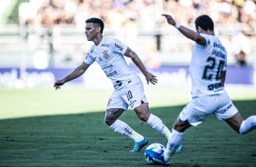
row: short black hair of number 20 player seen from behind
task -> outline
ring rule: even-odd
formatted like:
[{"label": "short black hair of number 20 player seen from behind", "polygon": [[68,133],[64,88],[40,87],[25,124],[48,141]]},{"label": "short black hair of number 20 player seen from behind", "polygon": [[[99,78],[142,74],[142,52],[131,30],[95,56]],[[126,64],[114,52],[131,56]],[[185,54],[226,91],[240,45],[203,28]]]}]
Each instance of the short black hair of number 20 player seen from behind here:
[{"label": "short black hair of number 20 player seen from behind", "polygon": [[214,29],[212,18],[208,15],[201,15],[197,17],[194,23],[196,28],[200,26],[204,31],[207,31],[207,30],[213,31]]}]

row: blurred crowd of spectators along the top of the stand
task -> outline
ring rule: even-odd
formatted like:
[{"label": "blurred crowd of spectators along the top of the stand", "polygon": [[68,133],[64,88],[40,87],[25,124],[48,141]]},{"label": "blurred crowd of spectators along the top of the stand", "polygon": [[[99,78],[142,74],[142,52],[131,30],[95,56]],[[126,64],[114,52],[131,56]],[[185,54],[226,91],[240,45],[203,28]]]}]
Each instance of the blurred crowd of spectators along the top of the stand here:
[{"label": "blurred crowd of spectators along the top of the stand", "polygon": [[181,25],[207,14],[217,25],[256,26],[256,0],[30,0],[30,9],[26,12],[34,14],[26,16],[27,24],[49,26],[80,25],[90,17],[112,26],[143,25],[161,13],[172,14]]}]

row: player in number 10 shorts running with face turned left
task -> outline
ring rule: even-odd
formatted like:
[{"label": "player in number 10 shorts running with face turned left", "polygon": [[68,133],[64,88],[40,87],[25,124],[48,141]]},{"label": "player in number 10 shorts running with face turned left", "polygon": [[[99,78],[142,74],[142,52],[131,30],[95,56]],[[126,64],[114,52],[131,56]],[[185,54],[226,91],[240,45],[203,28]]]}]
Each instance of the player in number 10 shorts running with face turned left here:
[{"label": "player in number 10 shorts running with face turned left", "polygon": [[[134,140],[134,149],[131,152],[139,152],[148,140],[143,135],[136,133],[127,123],[119,120],[119,116],[130,106],[137,116],[150,124],[153,129],[165,135],[169,139],[171,132],[162,123],[162,120],[150,113],[148,102],[143,91],[143,82],[133,73],[125,62],[123,55],[131,58],[145,76],[147,83],[157,83],[156,76],[149,73],[136,53],[127,45],[112,37],[103,36],[103,21],[99,18],[90,18],[85,21],[85,32],[88,41],[94,45],[88,51],[84,63],[79,65],[72,74],[63,80],[54,83],[55,89],[82,74],[96,61],[103,69],[103,73],[112,81],[114,91],[109,98],[106,107],[105,123],[116,133],[121,133]],[[182,149],[182,145],[178,152]]]}]

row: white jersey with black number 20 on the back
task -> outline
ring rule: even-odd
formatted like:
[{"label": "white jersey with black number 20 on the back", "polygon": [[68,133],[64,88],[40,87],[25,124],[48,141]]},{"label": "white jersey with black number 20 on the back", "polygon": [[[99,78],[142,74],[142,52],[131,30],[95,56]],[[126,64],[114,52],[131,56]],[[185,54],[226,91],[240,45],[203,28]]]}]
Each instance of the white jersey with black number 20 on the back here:
[{"label": "white jersey with black number 20 on the back", "polygon": [[226,49],[217,36],[201,35],[205,38],[206,44],[194,44],[189,69],[192,78],[192,97],[225,93],[221,74],[227,70]]}]

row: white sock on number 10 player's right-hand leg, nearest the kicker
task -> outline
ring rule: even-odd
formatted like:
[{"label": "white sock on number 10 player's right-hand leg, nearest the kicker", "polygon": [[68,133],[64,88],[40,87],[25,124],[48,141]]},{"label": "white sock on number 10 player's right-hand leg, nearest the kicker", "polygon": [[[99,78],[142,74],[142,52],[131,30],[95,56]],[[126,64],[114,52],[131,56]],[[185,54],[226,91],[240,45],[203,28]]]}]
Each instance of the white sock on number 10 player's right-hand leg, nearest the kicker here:
[{"label": "white sock on number 10 player's right-hand leg, nearest the kicker", "polygon": [[166,127],[166,125],[164,123],[162,123],[162,120],[160,118],[158,118],[157,116],[155,116],[151,113],[147,123],[150,124],[153,127],[153,129],[155,129],[159,133],[162,133],[163,135],[165,135],[165,137],[167,139],[170,138],[171,132]]}]

